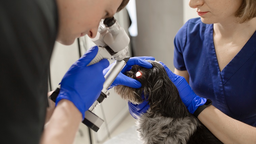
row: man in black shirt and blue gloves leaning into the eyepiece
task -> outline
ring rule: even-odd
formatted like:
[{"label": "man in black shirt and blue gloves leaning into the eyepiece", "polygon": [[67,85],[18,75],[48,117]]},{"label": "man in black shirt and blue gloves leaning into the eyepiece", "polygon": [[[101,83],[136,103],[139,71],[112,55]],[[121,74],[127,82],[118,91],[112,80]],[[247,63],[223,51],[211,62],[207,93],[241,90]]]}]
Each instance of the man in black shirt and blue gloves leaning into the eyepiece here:
[{"label": "man in black shirt and blue gloves leaning into the eyepiece", "polygon": [[[47,72],[54,43],[70,45],[82,35],[94,38],[101,19],[112,17],[129,0],[1,0],[1,143],[72,143],[84,112],[103,87],[103,59],[86,67],[93,47],[68,70],[56,109],[44,128]],[[143,60],[134,58],[131,65]],[[137,63],[139,62],[139,63]],[[144,66],[151,64],[144,61]],[[97,77],[91,77],[92,74]],[[141,86],[141,85],[140,85]],[[71,88],[70,88],[71,87]],[[135,86],[139,87],[139,85]],[[51,114],[51,113],[49,113]]]}]

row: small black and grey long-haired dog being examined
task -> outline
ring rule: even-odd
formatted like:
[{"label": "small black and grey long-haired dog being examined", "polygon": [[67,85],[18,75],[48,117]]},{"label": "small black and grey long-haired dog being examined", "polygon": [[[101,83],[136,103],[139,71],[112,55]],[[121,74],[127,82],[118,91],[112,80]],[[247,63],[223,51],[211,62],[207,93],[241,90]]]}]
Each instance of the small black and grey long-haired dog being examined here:
[{"label": "small black and grey long-haired dog being examined", "polygon": [[[135,89],[123,85],[115,87],[121,97],[133,104],[146,99],[147,113],[138,118],[137,131],[144,144],[222,144],[196,117],[189,113],[179,91],[169,79],[164,67],[148,61],[153,68],[132,66],[126,75],[142,86]],[[145,96],[144,96],[145,95]]]}]

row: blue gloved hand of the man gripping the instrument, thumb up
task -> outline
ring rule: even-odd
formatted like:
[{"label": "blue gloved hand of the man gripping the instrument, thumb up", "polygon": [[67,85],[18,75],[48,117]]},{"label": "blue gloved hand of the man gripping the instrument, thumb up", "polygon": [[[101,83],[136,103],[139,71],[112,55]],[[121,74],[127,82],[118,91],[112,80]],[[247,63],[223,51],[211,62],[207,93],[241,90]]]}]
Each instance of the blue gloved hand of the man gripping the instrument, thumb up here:
[{"label": "blue gloved hand of the man gripping the instrument, thumb up", "polygon": [[87,66],[97,52],[98,47],[92,47],[69,68],[61,81],[60,93],[56,99],[56,106],[61,99],[73,102],[82,113],[83,119],[85,111],[100,95],[105,81],[103,70],[109,66],[107,59]]}]

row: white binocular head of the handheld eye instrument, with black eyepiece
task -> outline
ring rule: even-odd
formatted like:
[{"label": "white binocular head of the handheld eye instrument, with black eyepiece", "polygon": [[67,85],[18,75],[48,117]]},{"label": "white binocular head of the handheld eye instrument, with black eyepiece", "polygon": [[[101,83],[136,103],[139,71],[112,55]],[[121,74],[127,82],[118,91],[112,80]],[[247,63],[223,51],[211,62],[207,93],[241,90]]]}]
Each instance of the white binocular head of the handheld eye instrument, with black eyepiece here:
[{"label": "white binocular head of the handheld eye instrument, with black eyepiece", "polygon": [[114,17],[100,22],[97,35],[92,41],[99,50],[88,66],[103,58],[121,61],[128,55],[130,38]]}]

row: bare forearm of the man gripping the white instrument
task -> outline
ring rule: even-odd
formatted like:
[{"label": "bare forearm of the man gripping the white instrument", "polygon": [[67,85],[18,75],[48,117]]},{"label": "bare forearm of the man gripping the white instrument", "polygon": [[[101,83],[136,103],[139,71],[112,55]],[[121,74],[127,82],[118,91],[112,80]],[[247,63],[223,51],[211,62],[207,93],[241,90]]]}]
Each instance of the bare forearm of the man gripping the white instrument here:
[{"label": "bare forearm of the man gripping the white instrument", "polygon": [[59,101],[48,125],[44,128],[40,144],[73,143],[81,121],[82,114],[71,101]]}]

